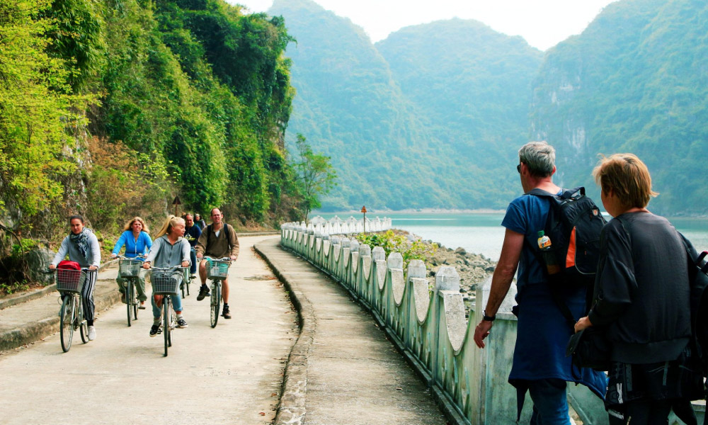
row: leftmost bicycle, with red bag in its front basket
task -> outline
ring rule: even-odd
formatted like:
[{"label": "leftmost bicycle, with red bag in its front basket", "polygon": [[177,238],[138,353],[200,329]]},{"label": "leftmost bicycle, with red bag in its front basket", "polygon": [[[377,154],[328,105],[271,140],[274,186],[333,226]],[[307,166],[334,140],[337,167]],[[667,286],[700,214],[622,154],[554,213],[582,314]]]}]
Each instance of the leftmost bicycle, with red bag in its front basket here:
[{"label": "leftmost bicycle, with red bag in its front basket", "polygon": [[81,289],[84,288],[88,273],[97,273],[95,270],[81,268],[57,268],[57,290],[62,295],[62,310],[59,310],[59,336],[62,342],[62,351],[67,353],[72,348],[74,330],[79,328],[81,341],[89,342],[89,324],[84,319],[84,303]]}]

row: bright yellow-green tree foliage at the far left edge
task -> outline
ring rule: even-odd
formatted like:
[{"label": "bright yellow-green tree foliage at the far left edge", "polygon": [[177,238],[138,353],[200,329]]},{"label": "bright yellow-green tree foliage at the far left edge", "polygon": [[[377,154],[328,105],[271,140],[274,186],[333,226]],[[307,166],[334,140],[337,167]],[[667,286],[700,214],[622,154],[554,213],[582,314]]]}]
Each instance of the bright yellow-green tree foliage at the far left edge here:
[{"label": "bright yellow-green tree foliage at the far left edge", "polygon": [[70,94],[80,72],[48,53],[55,21],[43,18],[50,1],[0,3],[0,208],[35,215],[62,197],[62,176],[76,163],[67,143],[85,123],[89,96]]}]

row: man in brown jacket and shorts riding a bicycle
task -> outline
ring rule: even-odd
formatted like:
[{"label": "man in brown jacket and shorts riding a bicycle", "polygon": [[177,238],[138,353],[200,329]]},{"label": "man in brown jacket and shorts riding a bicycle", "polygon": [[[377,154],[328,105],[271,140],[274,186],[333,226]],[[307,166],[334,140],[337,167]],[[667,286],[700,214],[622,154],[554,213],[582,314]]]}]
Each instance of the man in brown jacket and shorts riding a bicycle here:
[{"label": "man in brown jacket and shorts riding a bicycle", "polygon": [[[215,259],[229,257],[236,260],[239,257],[239,238],[236,237],[234,227],[224,223],[224,215],[219,208],[212,210],[212,224],[208,225],[203,230],[202,235],[197,242],[197,258],[202,259],[202,256],[210,256]],[[207,287],[207,261],[202,260],[199,264],[199,278],[202,280],[202,287],[199,288],[197,301],[201,301],[209,295]],[[222,298],[224,299],[224,310],[222,316],[224,319],[231,319],[229,312],[229,279],[222,281]]]}]

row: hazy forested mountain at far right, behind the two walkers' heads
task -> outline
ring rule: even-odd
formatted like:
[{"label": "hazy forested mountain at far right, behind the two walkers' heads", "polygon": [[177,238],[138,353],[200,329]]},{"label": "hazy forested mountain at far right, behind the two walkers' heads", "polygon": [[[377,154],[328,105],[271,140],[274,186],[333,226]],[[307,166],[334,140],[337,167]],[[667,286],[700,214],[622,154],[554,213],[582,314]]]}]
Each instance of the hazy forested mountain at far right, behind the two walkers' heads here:
[{"label": "hazy forested mountain at far right, behind the two walkers' heads", "polygon": [[532,137],[558,149],[566,185],[597,193],[599,153],[633,152],[661,193],[649,208],[708,214],[708,4],[623,0],[547,52],[534,84]]}]

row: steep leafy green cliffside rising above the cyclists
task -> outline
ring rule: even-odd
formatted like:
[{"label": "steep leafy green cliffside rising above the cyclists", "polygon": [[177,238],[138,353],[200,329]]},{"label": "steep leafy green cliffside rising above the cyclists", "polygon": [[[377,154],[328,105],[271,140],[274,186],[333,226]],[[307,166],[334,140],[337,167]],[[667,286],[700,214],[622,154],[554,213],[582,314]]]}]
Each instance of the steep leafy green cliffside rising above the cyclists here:
[{"label": "steep leafy green cliffside rising above the cyclists", "polygon": [[0,2],[1,220],[115,232],[174,196],[234,225],[295,219],[290,40],[222,0]]}]

